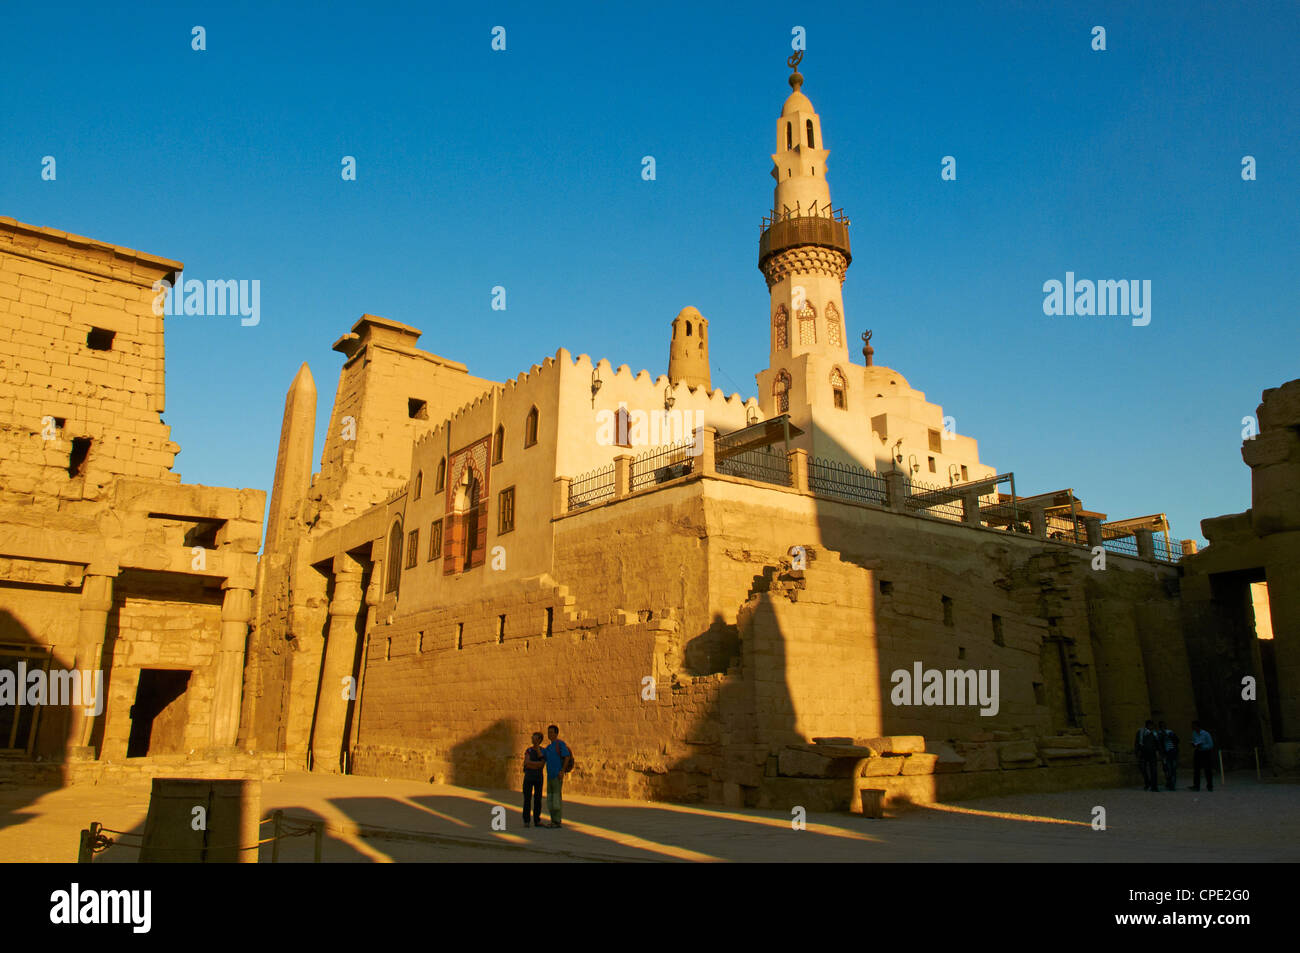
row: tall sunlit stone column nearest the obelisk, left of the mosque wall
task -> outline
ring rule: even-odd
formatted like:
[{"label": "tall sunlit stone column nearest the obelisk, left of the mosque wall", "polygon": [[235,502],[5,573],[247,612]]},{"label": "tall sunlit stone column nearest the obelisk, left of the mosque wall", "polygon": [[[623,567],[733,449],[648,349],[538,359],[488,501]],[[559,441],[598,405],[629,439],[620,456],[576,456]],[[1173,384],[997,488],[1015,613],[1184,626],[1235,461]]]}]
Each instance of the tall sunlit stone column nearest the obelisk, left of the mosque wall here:
[{"label": "tall sunlit stone column nearest the obelisk, left of the mosque wall", "polygon": [[[361,611],[361,564],[352,556],[334,556],[334,598],[329,603],[329,634],[321,663],[320,694],[316,698],[316,729],[312,732],[312,768],[339,774],[343,761],[343,723],[347,706],[344,679],[356,659],[356,618]],[[352,697],[356,685],[352,685]]]}]

